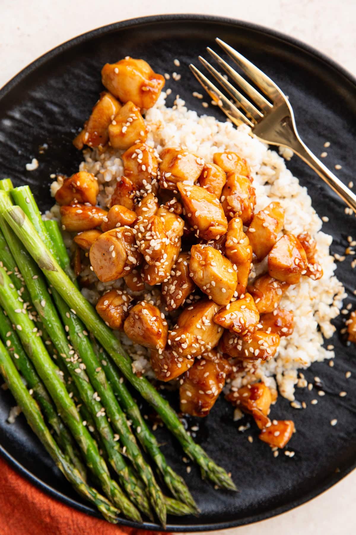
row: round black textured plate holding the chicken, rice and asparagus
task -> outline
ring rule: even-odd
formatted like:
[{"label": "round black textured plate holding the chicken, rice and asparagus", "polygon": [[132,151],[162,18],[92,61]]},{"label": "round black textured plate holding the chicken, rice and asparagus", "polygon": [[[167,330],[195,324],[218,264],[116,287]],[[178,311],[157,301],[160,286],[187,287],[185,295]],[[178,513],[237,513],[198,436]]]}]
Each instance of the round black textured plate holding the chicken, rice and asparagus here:
[{"label": "round black textured plate holding the chicken, rice and asparagus", "polygon": [[[299,132],[307,145],[320,154],[323,143],[330,141],[326,163],[342,164],[339,177],[347,184],[356,167],[356,83],[341,67],[306,45],[262,27],[230,19],[204,16],[157,16],[119,22],[77,37],[39,58],[11,80],[0,92],[1,173],[15,184],[30,184],[42,209],[52,204],[49,195],[50,174],[71,174],[81,161],[72,146],[75,132],[88,117],[96,102],[100,68],[126,55],[142,57],[157,72],[178,71],[182,79],[172,79],[166,87],[179,93],[190,109],[205,110],[192,97],[200,86],[188,70],[197,63],[205,47],[216,48],[215,36],[230,43],[261,67],[289,95]],[[180,59],[180,67],[173,59]],[[208,99],[207,99],[208,100]],[[210,113],[220,116],[210,106]],[[39,154],[44,143],[48,149]],[[26,163],[36,157],[39,167],[27,172]],[[355,221],[346,216],[344,204],[297,157],[289,169],[308,187],[313,205],[321,216],[328,216],[324,230],[334,236],[333,253],[343,254],[346,237],[353,234]],[[339,263],[337,276],[344,283],[353,302],[354,281],[350,258]],[[340,317],[336,324],[342,326]],[[199,531],[230,528],[259,521],[296,507],[326,490],[355,467],[356,461],[356,386],[345,379],[345,372],[356,373],[354,346],[346,347],[336,334],[332,340],[336,356],[334,368],[326,362],[314,364],[305,372],[308,380],[322,379],[326,396],[297,389],[297,398],[305,400],[305,410],[295,410],[287,400],[279,399],[273,408],[275,418],[292,418],[298,432],[290,442],[292,458],[281,453],[274,458],[268,446],[258,440],[256,426],[238,432],[232,420],[232,408],[221,398],[211,415],[199,422],[196,440],[233,473],[240,493],[218,492],[202,483],[196,467],[188,475],[181,460],[182,450],[164,430],[157,431],[163,453],[169,463],[187,480],[201,508],[199,518],[169,518],[169,531]],[[338,396],[346,390],[346,398]],[[319,403],[311,406],[317,398]],[[20,416],[15,424],[6,423],[13,399],[1,391],[0,443],[2,454],[24,475],[46,492],[86,513],[96,515],[81,501],[66,480],[54,468],[41,444]],[[338,419],[336,427],[330,425]],[[244,422],[250,422],[246,417]],[[189,426],[194,422],[189,422]],[[251,434],[251,445],[247,435]],[[10,456],[11,454],[11,456]],[[124,519],[122,524],[133,525]],[[146,529],[158,529],[151,523]]]}]

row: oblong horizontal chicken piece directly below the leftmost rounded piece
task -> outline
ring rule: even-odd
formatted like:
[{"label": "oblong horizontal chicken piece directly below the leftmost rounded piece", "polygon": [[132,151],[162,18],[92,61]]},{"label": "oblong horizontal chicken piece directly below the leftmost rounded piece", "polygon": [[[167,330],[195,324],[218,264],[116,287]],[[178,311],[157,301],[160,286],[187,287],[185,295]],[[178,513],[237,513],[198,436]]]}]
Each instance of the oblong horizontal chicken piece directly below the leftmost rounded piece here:
[{"label": "oblong horizontal chicken piece directly below the leftmost rounded piece", "polygon": [[101,225],[107,211],[97,206],[74,204],[60,208],[62,229],[69,232],[89,231]]}]

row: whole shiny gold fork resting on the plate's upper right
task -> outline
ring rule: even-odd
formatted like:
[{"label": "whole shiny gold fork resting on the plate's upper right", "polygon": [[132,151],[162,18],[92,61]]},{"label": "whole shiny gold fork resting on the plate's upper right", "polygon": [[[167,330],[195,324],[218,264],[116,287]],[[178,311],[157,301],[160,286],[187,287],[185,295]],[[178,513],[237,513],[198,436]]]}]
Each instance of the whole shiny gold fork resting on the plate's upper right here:
[{"label": "whole shiny gold fork resting on the plate's upper right", "polygon": [[236,126],[246,124],[251,127],[252,135],[258,137],[265,143],[287,147],[295,152],[356,212],[356,195],[334,173],[331,173],[300,139],[295,125],[294,113],[286,95],[284,95],[281,89],[265,73],[260,71],[258,67],[243,57],[238,51],[224,43],[224,41],[221,41],[221,39],[216,39],[216,42],[242,68],[251,81],[266,95],[268,100],[262,93],[242,78],[238,72],[234,71],[223,58],[208,47],[208,52],[216,60],[217,64],[249,97],[246,98],[220,72],[210,65],[207,60],[199,56],[203,66],[227,93],[231,95],[238,107],[221,93],[194,65],[189,65],[194,76],[212,100],[218,104],[221,110],[224,111]]}]

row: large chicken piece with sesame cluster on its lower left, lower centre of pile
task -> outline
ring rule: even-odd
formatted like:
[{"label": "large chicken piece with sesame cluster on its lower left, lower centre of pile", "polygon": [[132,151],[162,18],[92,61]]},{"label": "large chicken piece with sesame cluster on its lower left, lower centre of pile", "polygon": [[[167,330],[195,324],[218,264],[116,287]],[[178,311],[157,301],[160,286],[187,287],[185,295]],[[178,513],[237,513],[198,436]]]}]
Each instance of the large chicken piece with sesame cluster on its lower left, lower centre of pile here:
[{"label": "large chicken piece with sesame cluster on its lower left, lower centre of pile", "polygon": [[181,357],[202,355],[217,346],[223,328],[213,322],[219,306],[202,299],[187,307],[168,335],[168,345]]}]

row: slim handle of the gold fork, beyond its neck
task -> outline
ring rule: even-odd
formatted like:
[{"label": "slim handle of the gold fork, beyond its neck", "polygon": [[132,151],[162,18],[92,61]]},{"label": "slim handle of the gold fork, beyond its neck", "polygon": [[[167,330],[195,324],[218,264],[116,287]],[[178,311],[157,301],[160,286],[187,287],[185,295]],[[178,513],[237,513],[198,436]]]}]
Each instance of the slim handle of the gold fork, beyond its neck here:
[{"label": "slim handle of the gold fork, beyond its neck", "polygon": [[331,173],[329,169],[320,162],[311,150],[309,150],[305,143],[298,136],[292,143],[293,152],[295,152],[302,160],[307,163],[315,173],[318,173],[329,186],[336,192],[346,204],[356,213],[356,195],[349,189],[343,182],[336,177],[334,173]]}]

